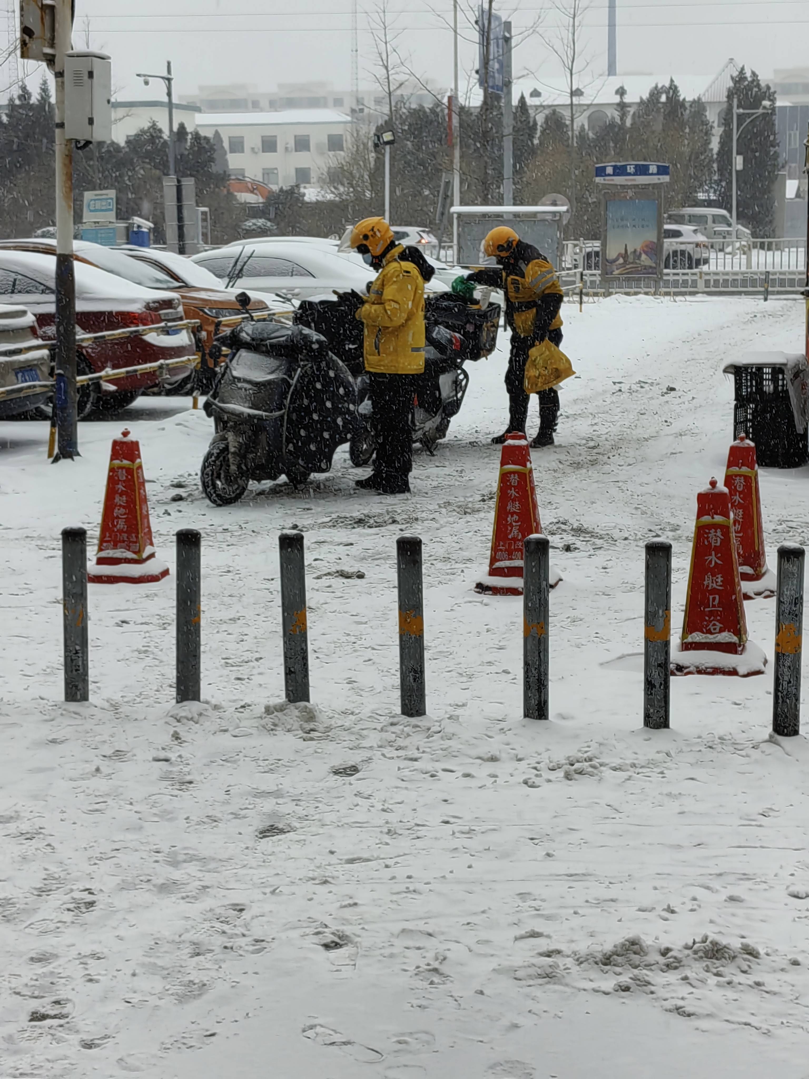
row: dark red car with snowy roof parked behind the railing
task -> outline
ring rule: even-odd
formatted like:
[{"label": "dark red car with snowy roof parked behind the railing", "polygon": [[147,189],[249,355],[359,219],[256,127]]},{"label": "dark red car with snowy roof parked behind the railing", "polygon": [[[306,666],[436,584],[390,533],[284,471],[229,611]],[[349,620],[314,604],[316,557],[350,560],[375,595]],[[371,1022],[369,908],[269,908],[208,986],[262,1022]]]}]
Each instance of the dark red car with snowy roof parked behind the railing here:
[{"label": "dark red car with snowy roof parked behind the railing", "polygon": [[[174,292],[143,288],[78,260],[76,268],[76,322],[84,333],[100,333],[132,326],[181,322],[182,303]],[[56,318],[56,258],[33,251],[0,249],[0,303],[19,303],[37,319],[40,337],[53,340]],[[79,343],[79,374],[107,368],[134,367],[160,359],[188,357],[188,366],[174,367],[168,384],[187,379],[196,363],[194,339],[187,329],[161,329],[142,337]],[[118,410],[159,383],[156,371],[132,374],[115,382],[79,386],[79,416]]]}]

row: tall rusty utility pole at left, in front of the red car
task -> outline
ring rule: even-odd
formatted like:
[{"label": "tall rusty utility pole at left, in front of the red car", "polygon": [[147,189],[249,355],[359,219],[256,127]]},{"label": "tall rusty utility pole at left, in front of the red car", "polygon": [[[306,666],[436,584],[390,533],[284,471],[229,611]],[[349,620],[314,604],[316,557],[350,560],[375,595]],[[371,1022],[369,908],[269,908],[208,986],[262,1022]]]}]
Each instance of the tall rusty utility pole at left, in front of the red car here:
[{"label": "tall rusty utility pole at left, in front of the red car", "polygon": [[65,137],[65,55],[72,49],[71,0],[54,10],[54,105],[56,114],[56,426],[54,462],[79,456],[76,385],[76,274],[73,270],[73,144]]}]

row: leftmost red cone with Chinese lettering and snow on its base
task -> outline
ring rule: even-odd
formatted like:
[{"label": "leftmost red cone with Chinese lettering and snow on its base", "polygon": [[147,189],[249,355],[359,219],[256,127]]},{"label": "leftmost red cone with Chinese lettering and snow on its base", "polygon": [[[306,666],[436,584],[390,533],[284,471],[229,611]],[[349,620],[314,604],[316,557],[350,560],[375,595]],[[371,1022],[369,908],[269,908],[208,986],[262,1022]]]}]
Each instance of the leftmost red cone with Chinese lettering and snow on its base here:
[{"label": "leftmost red cone with Chinese lettering and snow on its base", "polygon": [[167,575],[168,566],[154,557],[140,445],[124,431],[112,439],[98,551],[87,581],[146,584]]}]

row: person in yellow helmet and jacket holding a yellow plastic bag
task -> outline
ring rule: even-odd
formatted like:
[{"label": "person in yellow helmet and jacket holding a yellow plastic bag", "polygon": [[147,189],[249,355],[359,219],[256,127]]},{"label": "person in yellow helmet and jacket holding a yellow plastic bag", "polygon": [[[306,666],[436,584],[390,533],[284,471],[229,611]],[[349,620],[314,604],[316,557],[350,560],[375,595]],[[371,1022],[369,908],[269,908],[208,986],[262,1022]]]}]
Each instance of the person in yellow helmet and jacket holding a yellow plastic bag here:
[{"label": "person in yellow helmet and jacket holding a yellow plastic bag", "polygon": [[[556,270],[543,252],[520,240],[513,229],[499,226],[483,241],[483,254],[497,260],[496,267],[484,267],[467,275],[477,285],[501,288],[506,296],[506,322],[511,330],[511,352],[506,371],[509,401],[508,427],[492,441],[502,445],[510,431],[525,431],[529,418],[529,395],[523,388],[529,351],[546,338],[559,346],[562,343],[562,319],[559,310],[563,292]],[[559,393],[543,390],[539,398],[539,431],[532,446],[552,446],[559,416]]]}]

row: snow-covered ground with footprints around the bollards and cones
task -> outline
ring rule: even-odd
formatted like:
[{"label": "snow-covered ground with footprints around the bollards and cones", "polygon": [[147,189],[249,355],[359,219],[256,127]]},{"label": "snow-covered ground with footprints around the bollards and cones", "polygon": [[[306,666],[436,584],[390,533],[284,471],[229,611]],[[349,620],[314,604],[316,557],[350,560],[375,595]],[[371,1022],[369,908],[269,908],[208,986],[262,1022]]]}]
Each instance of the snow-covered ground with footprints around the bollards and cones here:
[{"label": "snow-covered ground with footprints around the bollards and cones", "polygon": [[[356,491],[341,451],[305,493],[215,509],[204,413],[126,413],[159,555],[204,535],[198,708],[172,705],[173,577],[91,587],[92,701],[60,701],[59,531],[97,534],[124,424],[82,425],[58,466],[43,425],[0,424],[3,1079],[809,1076],[805,741],[769,740],[771,674],[675,680],[672,730],[644,732],[637,659],[643,544],[674,544],[677,625],[696,492],[724,474],[721,363],[799,350],[803,305],[615,298],[565,320],[580,378],[534,452],[564,575],[545,725],[522,719],[521,601],[471,590],[503,354],[470,366],[398,498]],[[808,483],[763,474],[771,565],[809,541]],[[291,527],[314,708],[279,704]],[[404,532],[425,543],[423,720],[398,714]],[[773,601],[748,613],[771,658]]]}]

